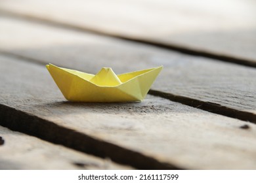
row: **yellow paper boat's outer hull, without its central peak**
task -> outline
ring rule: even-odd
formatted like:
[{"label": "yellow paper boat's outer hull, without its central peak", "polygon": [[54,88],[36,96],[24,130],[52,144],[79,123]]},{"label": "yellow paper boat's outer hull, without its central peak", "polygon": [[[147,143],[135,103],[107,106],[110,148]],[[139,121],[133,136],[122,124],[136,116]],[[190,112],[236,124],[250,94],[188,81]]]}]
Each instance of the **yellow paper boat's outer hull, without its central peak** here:
[{"label": "yellow paper boat's outer hull, without its central peak", "polygon": [[[162,67],[146,69],[142,74],[119,84],[118,86],[97,86],[85,78],[74,75],[70,69],[47,65],[47,69],[58,88],[68,101],[79,102],[131,102],[142,101]],[[117,75],[124,80],[136,72]],[[88,76],[90,77],[90,75]]]}]

